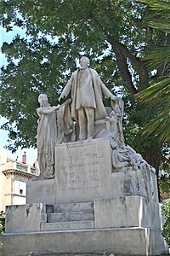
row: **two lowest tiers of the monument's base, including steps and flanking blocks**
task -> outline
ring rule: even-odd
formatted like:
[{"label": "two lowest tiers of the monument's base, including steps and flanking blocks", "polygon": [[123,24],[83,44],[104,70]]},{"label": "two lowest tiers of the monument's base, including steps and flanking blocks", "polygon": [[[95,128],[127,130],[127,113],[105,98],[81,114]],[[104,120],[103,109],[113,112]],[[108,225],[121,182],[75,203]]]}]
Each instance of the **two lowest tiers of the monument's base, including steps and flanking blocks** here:
[{"label": "two lowest tiers of the monument's base, including steps and flanking blocks", "polygon": [[[54,253],[161,255],[160,207],[140,196],[6,208],[3,256]],[[64,255],[65,255],[64,254]]]}]

